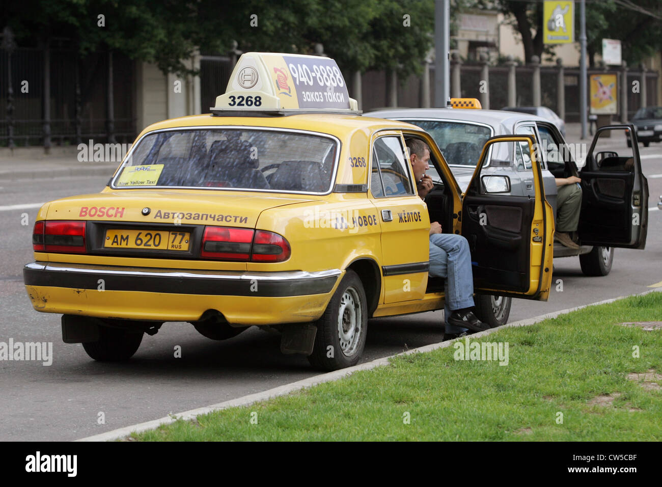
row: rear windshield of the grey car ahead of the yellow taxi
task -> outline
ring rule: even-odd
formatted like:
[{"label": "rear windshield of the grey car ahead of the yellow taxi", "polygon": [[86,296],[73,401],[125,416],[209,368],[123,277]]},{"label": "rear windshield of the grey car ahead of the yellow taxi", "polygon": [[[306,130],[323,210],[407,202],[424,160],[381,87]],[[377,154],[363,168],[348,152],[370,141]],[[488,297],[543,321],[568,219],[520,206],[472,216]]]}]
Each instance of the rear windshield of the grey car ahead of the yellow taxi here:
[{"label": "rear windshield of the grey car ahead of the yellow taxi", "polygon": [[473,123],[407,120],[430,133],[437,142],[448,164],[475,166],[492,129]]}]

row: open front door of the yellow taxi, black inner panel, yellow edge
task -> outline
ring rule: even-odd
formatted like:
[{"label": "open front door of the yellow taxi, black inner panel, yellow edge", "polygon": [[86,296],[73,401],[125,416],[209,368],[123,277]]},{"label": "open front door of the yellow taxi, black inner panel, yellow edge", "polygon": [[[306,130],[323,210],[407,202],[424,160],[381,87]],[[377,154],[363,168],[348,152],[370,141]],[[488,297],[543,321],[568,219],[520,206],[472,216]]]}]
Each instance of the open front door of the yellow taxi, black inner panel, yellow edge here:
[{"label": "open front door of the yellow taxi, black inner panel, yellow edge", "polygon": [[[471,249],[475,292],[547,301],[554,216],[534,143],[528,135],[490,138],[463,195],[459,226]],[[495,170],[509,168],[514,157],[531,164],[535,197],[511,195],[508,172]],[[486,166],[491,172],[481,174]]]}]

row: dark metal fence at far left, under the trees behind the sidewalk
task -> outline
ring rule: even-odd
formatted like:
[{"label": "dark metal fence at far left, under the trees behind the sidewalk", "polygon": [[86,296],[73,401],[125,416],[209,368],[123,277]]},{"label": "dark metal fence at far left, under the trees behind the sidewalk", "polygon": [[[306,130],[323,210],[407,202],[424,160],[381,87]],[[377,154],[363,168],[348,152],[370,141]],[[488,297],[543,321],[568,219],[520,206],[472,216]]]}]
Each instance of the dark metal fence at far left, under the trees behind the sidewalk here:
[{"label": "dark metal fence at far left, under the trees behind the sidewalk", "polygon": [[80,58],[66,46],[17,48],[11,66],[9,58],[0,50],[0,146],[9,145],[10,126],[15,146],[79,144],[89,138],[131,142],[135,137],[135,68],[129,58],[113,54],[111,64],[108,52]]}]

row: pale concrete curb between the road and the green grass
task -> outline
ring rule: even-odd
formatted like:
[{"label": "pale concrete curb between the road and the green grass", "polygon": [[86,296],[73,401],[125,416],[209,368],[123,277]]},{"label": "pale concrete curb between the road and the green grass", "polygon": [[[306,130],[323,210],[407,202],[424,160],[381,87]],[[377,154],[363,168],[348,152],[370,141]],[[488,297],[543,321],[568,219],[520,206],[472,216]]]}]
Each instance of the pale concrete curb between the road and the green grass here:
[{"label": "pale concrete curb between the road and the green grass", "polygon": [[[511,327],[525,327],[534,325],[535,323],[540,323],[545,319],[555,318],[559,315],[565,315],[571,311],[577,311],[577,309],[583,309],[589,306],[596,306],[600,304],[613,303],[619,299],[630,298],[630,296],[644,296],[651,292],[662,292],[662,288],[652,289],[640,294],[631,294],[629,296],[619,296],[618,298],[604,299],[604,301],[597,301],[596,303],[585,304],[573,308],[561,309],[560,311],[553,311],[553,313],[547,313],[546,315],[540,315],[533,318],[522,319],[520,321],[515,321],[514,323],[508,323],[502,327],[489,329],[486,331],[481,331],[481,333],[475,333],[471,335],[472,338],[479,338],[495,333],[504,328]],[[269,400],[271,398],[276,398],[278,396],[285,396],[291,392],[301,390],[303,388],[309,388],[316,386],[317,384],[322,384],[324,382],[331,382],[332,380],[342,379],[346,376],[352,375],[354,372],[359,370],[370,370],[372,368],[388,365],[389,359],[399,355],[408,355],[412,353],[421,353],[421,352],[430,352],[436,349],[445,349],[450,347],[453,341],[445,341],[440,343],[432,343],[430,345],[425,345],[424,347],[418,347],[417,349],[411,349],[406,352],[401,352],[395,355],[377,358],[371,362],[366,362],[365,364],[355,365],[354,367],[344,368],[342,370],[335,370],[334,372],[328,372],[327,374],[320,374],[318,376],[310,377],[303,380],[298,380],[297,382],[292,382],[291,384],[285,384],[283,386],[278,386],[273,389],[269,389],[263,392],[258,392],[256,394],[250,394],[248,396],[243,396],[241,398],[232,399],[225,402],[220,402],[218,404],[213,404],[211,406],[199,407],[197,409],[190,409],[189,411],[183,411],[182,413],[170,414],[167,417],[162,417],[161,419],[154,419],[153,421],[146,421],[145,423],[138,423],[136,425],[126,426],[119,429],[114,429],[113,431],[108,431],[107,433],[101,433],[99,435],[93,435],[86,438],[77,439],[75,441],[114,441],[117,439],[122,439],[129,436],[131,433],[142,433],[143,431],[148,431],[150,429],[156,429],[160,425],[167,425],[174,423],[177,419],[184,419],[185,421],[193,419],[198,415],[211,413],[217,411],[218,409],[227,409],[228,407],[235,406],[249,406],[255,402]]]}]

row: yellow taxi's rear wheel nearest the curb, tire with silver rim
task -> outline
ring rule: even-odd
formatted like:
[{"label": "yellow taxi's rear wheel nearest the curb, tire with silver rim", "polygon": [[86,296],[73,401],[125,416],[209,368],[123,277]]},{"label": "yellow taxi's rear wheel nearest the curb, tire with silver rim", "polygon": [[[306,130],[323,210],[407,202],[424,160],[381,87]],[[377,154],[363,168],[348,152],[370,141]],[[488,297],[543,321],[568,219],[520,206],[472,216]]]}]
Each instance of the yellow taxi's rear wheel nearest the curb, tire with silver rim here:
[{"label": "yellow taxi's rear wheel nearest the curb, tire with silver rim", "polygon": [[315,343],[308,356],[312,366],[338,370],[359,361],[367,335],[367,299],[353,270],[346,271],[316,326]]}]

